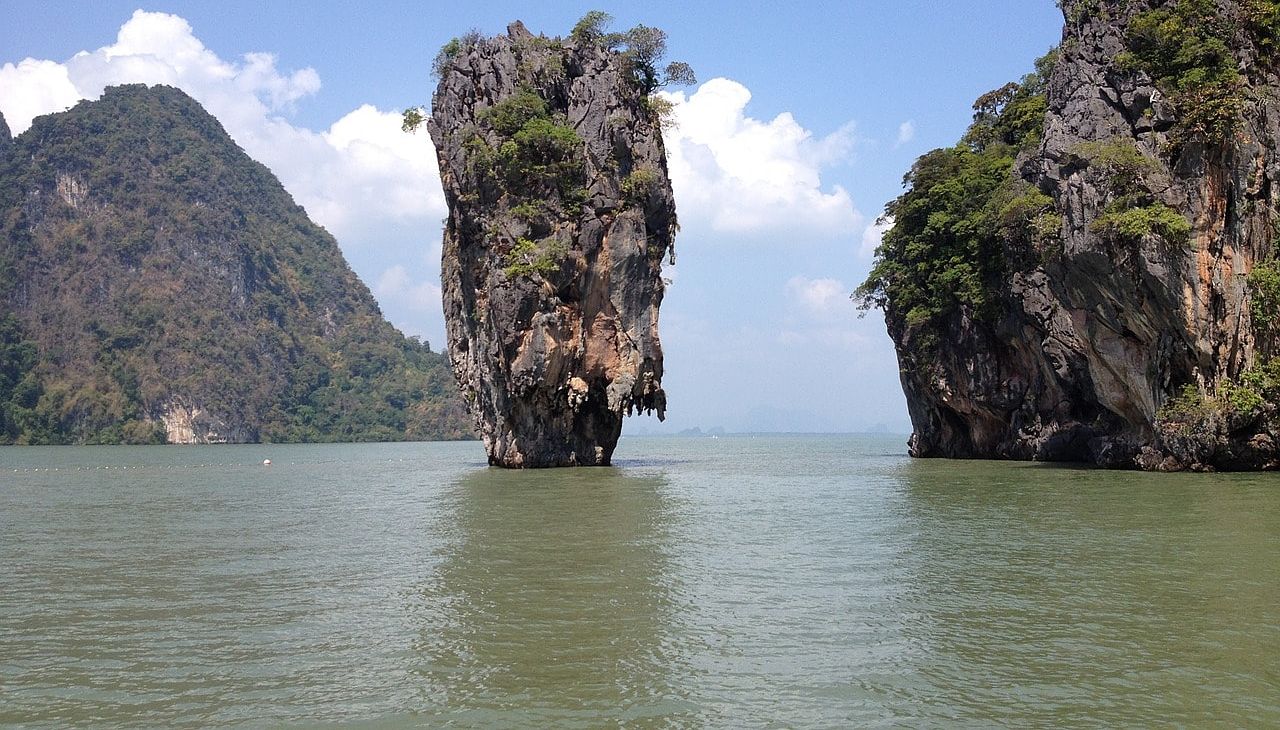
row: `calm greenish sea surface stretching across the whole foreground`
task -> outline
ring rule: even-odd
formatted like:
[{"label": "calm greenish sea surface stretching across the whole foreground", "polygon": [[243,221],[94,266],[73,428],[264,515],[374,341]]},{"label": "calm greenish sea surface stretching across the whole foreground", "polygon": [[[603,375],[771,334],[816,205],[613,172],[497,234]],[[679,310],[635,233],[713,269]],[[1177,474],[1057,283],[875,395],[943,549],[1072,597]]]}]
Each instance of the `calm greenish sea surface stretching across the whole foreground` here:
[{"label": "calm greenish sea surface stretching across the whole foreground", "polygon": [[0,450],[0,724],[1280,725],[1280,476],[616,460]]}]

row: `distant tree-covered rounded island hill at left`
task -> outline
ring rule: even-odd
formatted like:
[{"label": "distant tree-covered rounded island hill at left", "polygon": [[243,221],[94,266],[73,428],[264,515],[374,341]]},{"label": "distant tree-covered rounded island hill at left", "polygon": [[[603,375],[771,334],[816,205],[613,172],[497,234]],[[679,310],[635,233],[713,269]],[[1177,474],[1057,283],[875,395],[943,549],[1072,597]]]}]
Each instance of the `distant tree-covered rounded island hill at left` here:
[{"label": "distant tree-covered rounded island hill at left", "polygon": [[0,443],[460,438],[447,359],[186,93],[0,119]]}]

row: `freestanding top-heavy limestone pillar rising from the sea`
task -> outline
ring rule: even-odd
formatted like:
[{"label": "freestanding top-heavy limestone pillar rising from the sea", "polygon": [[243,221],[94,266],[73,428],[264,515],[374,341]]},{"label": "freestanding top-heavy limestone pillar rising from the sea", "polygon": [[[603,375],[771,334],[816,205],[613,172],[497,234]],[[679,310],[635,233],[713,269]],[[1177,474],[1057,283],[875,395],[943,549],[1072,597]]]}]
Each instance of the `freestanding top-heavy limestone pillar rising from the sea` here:
[{"label": "freestanding top-heavy limestone pillar rising from the sea", "polygon": [[429,123],[449,204],[449,352],[489,461],[604,465],[662,418],[676,213],[659,114],[621,54],[531,35],[443,59]]}]

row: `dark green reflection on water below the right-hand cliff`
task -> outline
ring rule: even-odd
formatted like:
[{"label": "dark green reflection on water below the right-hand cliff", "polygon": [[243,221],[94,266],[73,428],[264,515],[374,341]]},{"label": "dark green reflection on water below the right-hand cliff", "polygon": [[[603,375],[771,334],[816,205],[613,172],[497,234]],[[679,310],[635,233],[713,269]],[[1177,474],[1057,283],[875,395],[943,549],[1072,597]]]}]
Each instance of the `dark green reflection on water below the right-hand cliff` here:
[{"label": "dark green reflection on water below the right-hand cliff", "polygon": [[904,630],[934,711],[1046,726],[1280,722],[1271,475],[916,461]]}]

